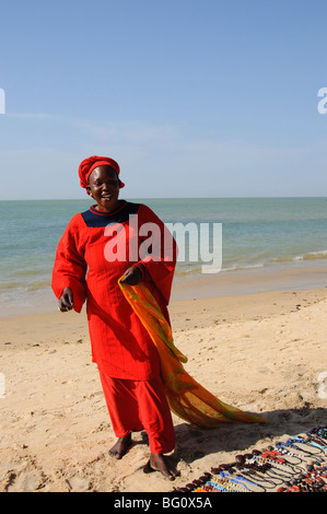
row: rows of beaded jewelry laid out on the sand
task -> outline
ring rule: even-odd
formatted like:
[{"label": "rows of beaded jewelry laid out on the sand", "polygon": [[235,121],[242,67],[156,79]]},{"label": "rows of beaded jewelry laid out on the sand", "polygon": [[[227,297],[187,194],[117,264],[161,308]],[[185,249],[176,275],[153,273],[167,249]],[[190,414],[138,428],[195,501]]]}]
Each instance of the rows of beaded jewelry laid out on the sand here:
[{"label": "rows of beaded jewelry laid out on the sand", "polygon": [[236,455],[174,492],[327,492],[327,427]]}]

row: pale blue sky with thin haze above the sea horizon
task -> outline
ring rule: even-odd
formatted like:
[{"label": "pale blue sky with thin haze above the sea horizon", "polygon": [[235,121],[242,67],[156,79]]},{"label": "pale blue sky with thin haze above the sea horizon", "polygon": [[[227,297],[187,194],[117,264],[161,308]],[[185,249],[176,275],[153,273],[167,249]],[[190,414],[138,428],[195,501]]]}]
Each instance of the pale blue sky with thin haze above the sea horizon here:
[{"label": "pale blue sky with thin haze above the sea horizon", "polygon": [[1,5],[0,199],[326,196],[326,2],[11,0]]}]

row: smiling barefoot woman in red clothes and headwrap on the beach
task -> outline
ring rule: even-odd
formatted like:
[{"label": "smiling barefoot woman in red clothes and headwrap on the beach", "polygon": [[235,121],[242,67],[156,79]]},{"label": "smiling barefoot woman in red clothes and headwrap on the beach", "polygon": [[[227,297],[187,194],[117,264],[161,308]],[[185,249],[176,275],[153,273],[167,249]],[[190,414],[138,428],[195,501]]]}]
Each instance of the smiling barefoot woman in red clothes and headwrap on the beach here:
[{"label": "smiling barefoot woman in red clothes and headwrap on the beach", "polygon": [[173,479],[176,471],[164,454],[174,449],[175,434],[160,358],[118,279],[144,282],[168,320],[176,245],[151,209],[119,199],[119,172],[109,157],[94,155],[80,164],[80,184],[95,205],[69,222],[56,253],[52,290],[61,312],[79,313],[86,300],[92,360],[118,437],[110,455],[121,458],[131,432],[145,430],[150,466]]}]

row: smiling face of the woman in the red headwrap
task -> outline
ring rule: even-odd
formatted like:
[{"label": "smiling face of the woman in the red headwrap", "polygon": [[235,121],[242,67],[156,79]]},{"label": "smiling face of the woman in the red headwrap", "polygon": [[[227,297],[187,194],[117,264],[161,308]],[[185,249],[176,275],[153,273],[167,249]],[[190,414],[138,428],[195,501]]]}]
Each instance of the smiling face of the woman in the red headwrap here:
[{"label": "smiling face of the woman in the red headwrap", "polygon": [[109,166],[97,166],[93,170],[86,192],[96,201],[100,211],[117,209],[119,179],[115,170]]}]

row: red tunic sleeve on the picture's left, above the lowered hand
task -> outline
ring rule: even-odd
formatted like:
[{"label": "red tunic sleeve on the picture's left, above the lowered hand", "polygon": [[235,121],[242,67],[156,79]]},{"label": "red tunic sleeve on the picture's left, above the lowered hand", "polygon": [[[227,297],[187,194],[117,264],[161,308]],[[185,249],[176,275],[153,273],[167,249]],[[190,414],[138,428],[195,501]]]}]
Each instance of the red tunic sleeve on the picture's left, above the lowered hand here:
[{"label": "red tunic sleeve on the picture's left, above the lowered hand", "polygon": [[69,222],[59,241],[52,270],[51,287],[59,300],[65,288],[73,292],[73,308],[80,313],[86,297],[86,262],[81,229],[84,222],[81,214],[74,215]]}]

